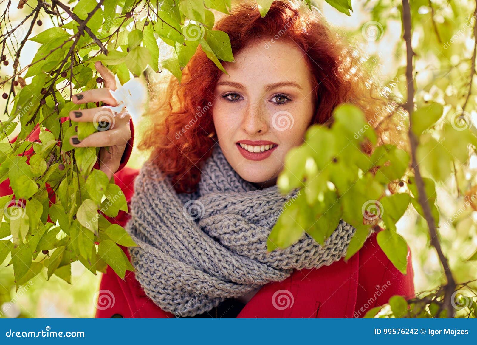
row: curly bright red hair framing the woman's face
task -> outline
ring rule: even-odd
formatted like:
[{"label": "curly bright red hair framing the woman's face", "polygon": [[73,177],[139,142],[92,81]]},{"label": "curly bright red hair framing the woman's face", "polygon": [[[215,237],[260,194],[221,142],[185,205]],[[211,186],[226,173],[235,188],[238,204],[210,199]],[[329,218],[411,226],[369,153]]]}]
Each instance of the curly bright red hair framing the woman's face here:
[{"label": "curly bright red hair framing the woman's face", "polygon": [[[395,125],[388,130],[384,123],[389,123],[396,106],[386,105],[383,90],[363,66],[357,50],[344,42],[344,35],[331,27],[318,9],[310,10],[300,0],[279,0],[261,18],[256,1],[242,2],[214,29],[228,33],[234,55],[256,39],[294,42],[306,54],[313,74],[316,102],[312,124],[329,122],[333,109],[348,102],[358,105],[368,121],[373,121],[381,139],[389,139],[390,131],[395,131]],[[182,83],[168,76],[166,96],[164,91],[154,94],[145,115],[151,125],[138,148],[151,150],[149,160],[171,178],[178,193],[195,190],[201,164],[217,141],[210,105],[222,73],[198,48],[183,70]]]}]

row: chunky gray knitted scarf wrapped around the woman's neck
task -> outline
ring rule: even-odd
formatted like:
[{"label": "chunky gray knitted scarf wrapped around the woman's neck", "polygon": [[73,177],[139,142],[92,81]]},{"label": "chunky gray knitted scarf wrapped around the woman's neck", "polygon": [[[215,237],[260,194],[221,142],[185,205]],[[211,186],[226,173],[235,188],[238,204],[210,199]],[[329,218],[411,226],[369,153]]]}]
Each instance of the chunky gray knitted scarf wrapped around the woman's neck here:
[{"label": "chunky gray knitted scarf wrapped around the woman's neck", "polygon": [[323,247],[304,234],[285,250],[267,252],[267,238],[283,206],[278,187],[257,189],[213,147],[194,193],[176,193],[156,165],[145,162],[135,179],[131,219],[125,229],[135,277],[145,294],[176,316],[210,311],[294,269],[340,260],[355,228],[344,221]]}]

